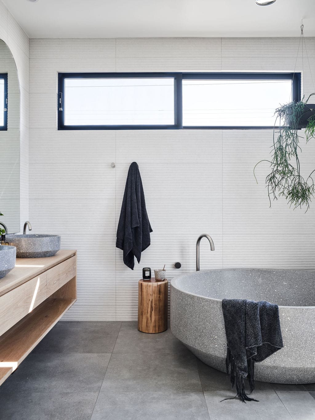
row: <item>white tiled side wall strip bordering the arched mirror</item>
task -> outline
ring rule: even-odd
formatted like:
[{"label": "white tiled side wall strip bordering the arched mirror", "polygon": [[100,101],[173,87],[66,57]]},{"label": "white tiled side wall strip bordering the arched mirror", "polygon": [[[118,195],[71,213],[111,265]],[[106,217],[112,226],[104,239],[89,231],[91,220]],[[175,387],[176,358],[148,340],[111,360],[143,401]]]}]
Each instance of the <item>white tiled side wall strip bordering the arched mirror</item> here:
[{"label": "white tiled side wall strip bordering the arched mirror", "polygon": [[11,50],[20,82],[20,221],[22,230],[24,221],[29,218],[29,37],[1,0],[0,39]]}]

